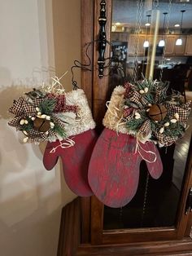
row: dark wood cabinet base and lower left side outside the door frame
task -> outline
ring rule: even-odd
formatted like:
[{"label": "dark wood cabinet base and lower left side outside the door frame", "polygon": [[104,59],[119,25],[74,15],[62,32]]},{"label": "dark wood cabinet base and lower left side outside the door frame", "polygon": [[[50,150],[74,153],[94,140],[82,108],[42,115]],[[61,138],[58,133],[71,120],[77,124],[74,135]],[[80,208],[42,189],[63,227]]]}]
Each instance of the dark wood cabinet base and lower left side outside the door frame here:
[{"label": "dark wood cabinet base and lower left side outside the door frame", "polygon": [[174,241],[150,241],[113,245],[91,245],[81,243],[80,198],[66,205],[62,210],[57,256],[75,255],[192,255],[192,240],[186,237]]}]

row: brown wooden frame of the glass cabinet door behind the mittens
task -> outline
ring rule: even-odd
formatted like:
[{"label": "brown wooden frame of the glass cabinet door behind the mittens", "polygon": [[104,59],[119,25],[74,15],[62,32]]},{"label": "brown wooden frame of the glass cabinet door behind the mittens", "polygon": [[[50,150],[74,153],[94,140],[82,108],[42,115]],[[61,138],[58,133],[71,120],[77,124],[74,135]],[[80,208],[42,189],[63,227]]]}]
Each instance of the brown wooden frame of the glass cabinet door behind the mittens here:
[{"label": "brown wooden frame of the glass cabinet door behind the mittens", "polygon": [[[85,0],[86,1],[86,0]],[[83,4],[85,4],[83,1]],[[107,39],[110,41],[111,35],[111,7],[112,7],[112,0],[107,0],[106,5],[106,15],[107,15],[107,24],[106,24],[106,33]],[[90,4],[90,3],[89,3]],[[94,5],[94,8],[93,8]],[[94,0],[92,2],[92,10],[94,9],[94,34],[93,38],[96,39],[98,36],[99,31],[99,24],[98,24],[98,16],[100,12],[100,1]],[[89,19],[89,18],[88,18]],[[82,28],[85,26],[83,25]],[[86,28],[87,29],[87,28]],[[84,35],[84,33],[82,33]],[[93,40],[92,38],[92,40]],[[85,38],[83,38],[85,40]],[[86,38],[88,40],[88,38]],[[90,39],[89,39],[90,40]],[[85,43],[85,42],[83,42]],[[95,68],[95,65],[98,60],[98,49],[97,45],[94,44],[94,55],[93,55],[93,64],[94,64],[94,71],[92,77],[92,106],[93,106],[93,113],[94,119],[97,124],[101,125],[103,115],[105,113],[105,103],[107,99],[107,90],[108,90],[108,79],[107,77],[103,77],[100,79],[98,77],[98,70]],[[107,49],[107,55],[109,55],[109,48]],[[192,155],[191,157],[192,158]],[[160,240],[173,240],[173,239],[181,239],[187,234],[186,230],[187,223],[189,220],[189,216],[185,215],[185,200],[189,189],[191,187],[191,170],[190,166],[192,162],[188,157],[188,166],[185,171],[185,189],[181,195],[181,206],[179,207],[179,211],[177,214],[177,227],[159,227],[159,228],[143,228],[143,229],[124,229],[124,230],[110,230],[110,231],[103,231],[103,203],[98,201],[95,196],[91,198],[91,205],[89,209],[91,209],[91,216],[90,218],[90,232],[91,232],[91,243],[93,245],[101,245],[101,244],[108,244],[108,243],[115,243],[118,242],[138,242],[138,241],[160,241]],[[90,202],[89,202],[90,203]]]}]

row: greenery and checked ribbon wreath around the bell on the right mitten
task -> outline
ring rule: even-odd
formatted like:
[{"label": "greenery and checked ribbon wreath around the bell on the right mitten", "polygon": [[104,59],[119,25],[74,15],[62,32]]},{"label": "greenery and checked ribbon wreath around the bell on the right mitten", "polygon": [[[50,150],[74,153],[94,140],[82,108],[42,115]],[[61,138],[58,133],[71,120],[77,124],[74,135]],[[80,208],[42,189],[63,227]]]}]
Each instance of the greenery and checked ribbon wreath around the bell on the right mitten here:
[{"label": "greenery and checked ribbon wreath around the bell on the right mitten", "polygon": [[[166,141],[170,138],[170,143],[172,143],[171,138],[182,137],[185,132],[185,121],[182,120],[182,117],[179,117],[177,108],[180,108],[180,113],[188,113],[190,108],[183,108],[185,104],[182,102],[179,92],[172,91],[172,94],[168,95],[168,83],[147,79],[138,81],[134,85],[128,84],[128,86],[128,98],[125,98],[124,104],[134,110],[127,119],[125,118],[125,125],[129,131],[139,132],[142,125],[148,120],[151,126],[151,140],[157,140],[155,135],[158,133],[163,134]],[[163,120],[155,121],[148,115],[148,111],[153,104],[166,106],[168,113]],[[177,106],[177,108],[174,108],[174,106]],[[140,117],[136,118],[135,113],[139,113]],[[175,120],[172,122],[172,119]]]}]

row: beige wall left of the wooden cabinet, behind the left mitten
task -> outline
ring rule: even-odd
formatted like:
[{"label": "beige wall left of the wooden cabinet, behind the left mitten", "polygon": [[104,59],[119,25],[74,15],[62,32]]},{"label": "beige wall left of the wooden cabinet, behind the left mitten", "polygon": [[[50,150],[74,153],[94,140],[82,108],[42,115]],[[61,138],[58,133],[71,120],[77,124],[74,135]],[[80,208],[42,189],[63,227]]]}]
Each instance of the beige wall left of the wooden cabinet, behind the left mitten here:
[{"label": "beige wall left of the wooden cabinet, behind the left mitten", "polygon": [[[75,195],[59,164],[44,169],[45,145],[19,143],[7,108],[80,59],[80,1],[0,0],[0,6],[0,255],[55,256],[61,208]],[[68,73],[67,90],[70,81]]]}]

